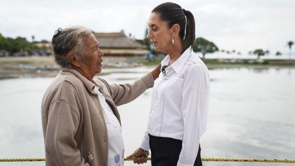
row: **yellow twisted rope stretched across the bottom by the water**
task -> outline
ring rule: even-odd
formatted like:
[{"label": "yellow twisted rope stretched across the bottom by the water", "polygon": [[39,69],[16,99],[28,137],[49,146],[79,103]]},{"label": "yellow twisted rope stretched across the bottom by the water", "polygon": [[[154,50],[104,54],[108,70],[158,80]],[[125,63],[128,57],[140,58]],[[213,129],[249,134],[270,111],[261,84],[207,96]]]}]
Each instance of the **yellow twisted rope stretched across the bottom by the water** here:
[{"label": "yellow twisted rope stretched across the bottom by the water", "polygon": [[[124,161],[132,161],[137,158],[127,159]],[[148,157],[147,160],[151,160]],[[13,162],[13,161],[45,161],[45,158],[23,158],[23,159],[0,159],[0,162]],[[265,163],[295,163],[295,160],[289,159],[234,159],[234,158],[202,158],[202,161],[236,161],[236,162],[265,162]]]}]

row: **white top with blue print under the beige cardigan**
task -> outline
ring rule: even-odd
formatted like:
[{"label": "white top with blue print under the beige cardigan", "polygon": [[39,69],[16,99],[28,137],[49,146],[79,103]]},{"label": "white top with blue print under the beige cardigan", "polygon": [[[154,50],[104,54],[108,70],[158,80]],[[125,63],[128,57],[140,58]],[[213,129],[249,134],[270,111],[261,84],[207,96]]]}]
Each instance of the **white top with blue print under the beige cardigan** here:
[{"label": "white top with blue print under the beige cardigan", "polygon": [[108,129],[108,166],[124,165],[124,142],[120,123],[104,96],[99,92],[99,87],[94,87],[100,105],[104,112],[104,120]]}]

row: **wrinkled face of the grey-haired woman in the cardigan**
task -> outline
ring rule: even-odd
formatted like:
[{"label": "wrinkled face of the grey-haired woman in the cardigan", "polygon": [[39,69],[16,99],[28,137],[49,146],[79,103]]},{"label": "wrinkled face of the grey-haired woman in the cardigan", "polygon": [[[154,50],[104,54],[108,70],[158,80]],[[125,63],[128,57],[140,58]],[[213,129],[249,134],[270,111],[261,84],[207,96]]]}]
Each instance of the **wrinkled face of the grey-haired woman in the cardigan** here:
[{"label": "wrinkled face of the grey-haired woman in the cardigan", "polygon": [[101,72],[104,53],[98,48],[99,42],[93,34],[90,34],[86,39],[86,45],[87,48],[84,52],[86,63],[80,63],[80,69],[85,73],[95,75]]}]

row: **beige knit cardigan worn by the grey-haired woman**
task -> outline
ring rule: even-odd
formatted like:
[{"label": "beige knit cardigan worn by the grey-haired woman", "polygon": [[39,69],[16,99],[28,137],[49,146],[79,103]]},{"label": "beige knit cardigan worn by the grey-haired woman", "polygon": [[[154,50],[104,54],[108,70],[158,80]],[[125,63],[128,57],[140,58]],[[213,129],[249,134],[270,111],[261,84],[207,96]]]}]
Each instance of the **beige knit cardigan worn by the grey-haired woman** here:
[{"label": "beige knit cardigan worn by the grey-haired woman", "polygon": [[108,84],[98,77],[91,82],[77,70],[62,69],[41,104],[46,166],[108,165],[107,127],[95,85],[121,124],[117,106],[136,99],[154,80],[147,73],[128,84]]}]

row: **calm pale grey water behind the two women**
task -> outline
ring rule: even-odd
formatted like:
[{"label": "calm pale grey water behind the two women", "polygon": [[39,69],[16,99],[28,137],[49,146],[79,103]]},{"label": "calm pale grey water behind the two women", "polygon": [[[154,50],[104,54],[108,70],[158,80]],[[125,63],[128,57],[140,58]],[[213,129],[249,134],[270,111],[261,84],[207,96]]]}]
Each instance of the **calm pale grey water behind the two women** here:
[{"label": "calm pale grey water behind the two women", "polygon": [[[103,69],[112,74],[101,77],[109,83],[125,83],[151,69]],[[210,76],[210,112],[207,131],[201,138],[202,157],[295,159],[295,68],[211,69]],[[45,157],[40,107],[52,79],[0,80],[0,158]],[[125,156],[141,142],[150,101],[151,89],[148,89],[135,101],[118,107]],[[45,165],[45,162],[0,165]],[[134,164],[125,161],[124,165]],[[294,164],[203,162],[203,165]]]}]

